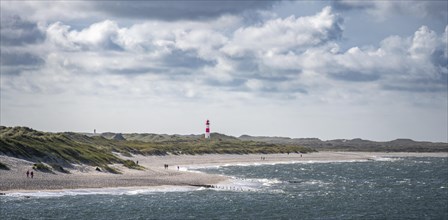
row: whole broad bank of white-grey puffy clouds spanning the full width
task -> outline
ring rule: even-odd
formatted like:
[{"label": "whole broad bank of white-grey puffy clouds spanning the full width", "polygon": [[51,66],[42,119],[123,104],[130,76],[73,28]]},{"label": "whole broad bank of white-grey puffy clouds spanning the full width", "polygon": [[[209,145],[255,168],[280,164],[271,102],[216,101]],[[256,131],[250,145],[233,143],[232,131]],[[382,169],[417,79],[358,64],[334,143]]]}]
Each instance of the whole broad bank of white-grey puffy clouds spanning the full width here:
[{"label": "whole broad bank of white-grey puffy clouds spanning the full width", "polygon": [[2,68],[13,72],[23,62],[15,68],[21,77],[2,82],[4,91],[331,102],[360,101],[375,91],[440,93],[447,87],[446,30],[438,34],[422,26],[378,47],[341,50],[343,17],[330,7],[257,24],[226,15],[206,22],[103,20],[39,28],[45,38],[36,46],[2,47],[10,51]]}]

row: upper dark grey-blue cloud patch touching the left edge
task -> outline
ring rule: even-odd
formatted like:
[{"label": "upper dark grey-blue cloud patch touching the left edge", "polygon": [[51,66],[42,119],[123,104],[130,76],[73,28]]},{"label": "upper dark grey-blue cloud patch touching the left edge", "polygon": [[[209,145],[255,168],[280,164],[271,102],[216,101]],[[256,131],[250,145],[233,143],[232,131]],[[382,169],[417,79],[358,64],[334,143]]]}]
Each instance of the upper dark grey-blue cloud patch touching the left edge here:
[{"label": "upper dark grey-blue cloud patch touching the left edge", "polygon": [[22,20],[18,15],[2,15],[0,33],[2,46],[35,44],[45,38],[36,23]]}]

